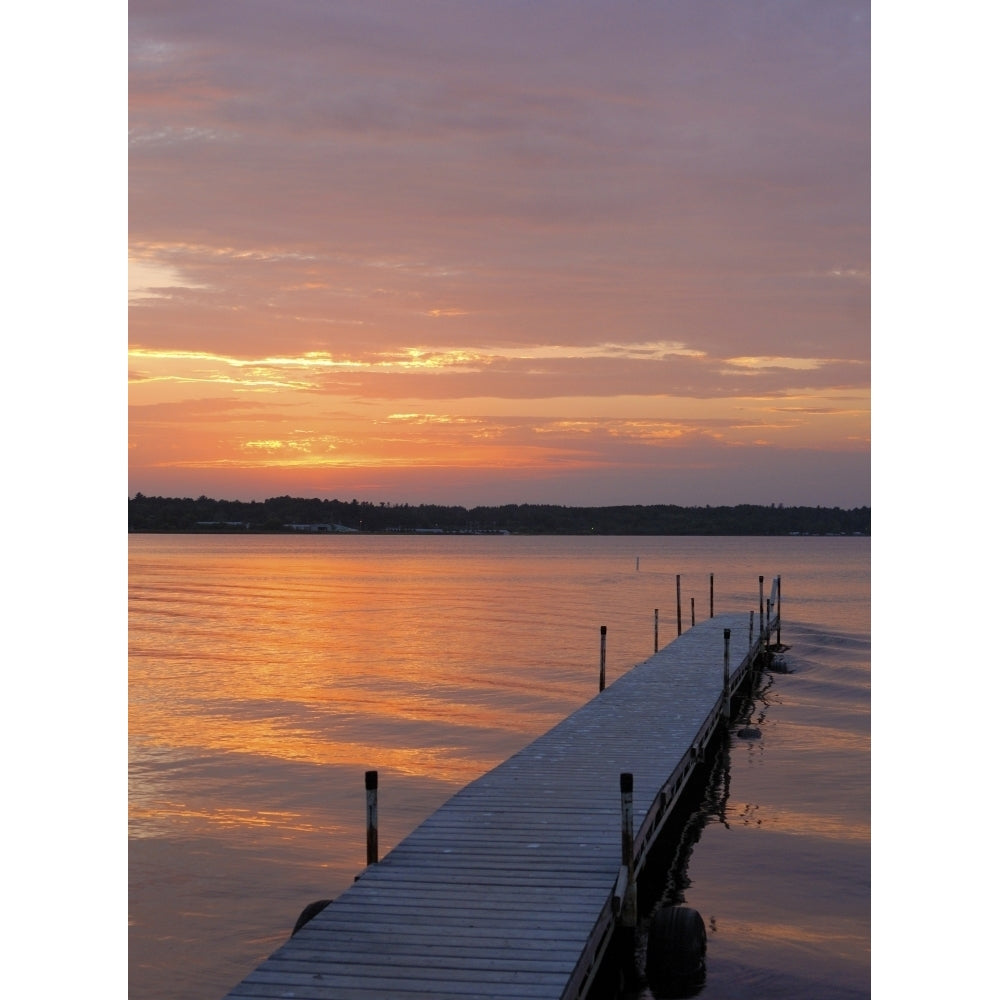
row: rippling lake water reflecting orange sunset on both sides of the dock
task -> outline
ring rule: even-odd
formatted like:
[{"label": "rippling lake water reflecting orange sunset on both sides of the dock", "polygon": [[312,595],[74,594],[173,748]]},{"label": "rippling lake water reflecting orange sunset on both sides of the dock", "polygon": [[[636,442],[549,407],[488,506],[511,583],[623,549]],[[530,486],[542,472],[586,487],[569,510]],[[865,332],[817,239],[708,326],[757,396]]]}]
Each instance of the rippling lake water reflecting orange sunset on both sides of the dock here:
[{"label": "rippling lake water reflecting orange sunset on both sides of the dock", "polygon": [[[218,1000],[379,846],[708,614],[782,577],[694,831],[706,998],[869,995],[867,538],[129,538],[129,995]],[[638,560],[638,567],[637,567]],[[610,887],[609,887],[610,888]]]}]

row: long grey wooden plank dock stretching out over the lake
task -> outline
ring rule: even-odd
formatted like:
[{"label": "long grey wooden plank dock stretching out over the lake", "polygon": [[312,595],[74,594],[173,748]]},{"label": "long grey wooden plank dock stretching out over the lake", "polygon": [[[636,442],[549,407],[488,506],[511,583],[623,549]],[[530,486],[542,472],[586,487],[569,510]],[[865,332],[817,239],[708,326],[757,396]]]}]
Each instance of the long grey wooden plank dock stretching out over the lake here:
[{"label": "long grey wooden plank dock stretching out over the lake", "polygon": [[458,792],[228,996],[585,997],[728,718],[726,668],[731,694],[780,628],[778,602],[763,634],[752,613],[690,628]]}]

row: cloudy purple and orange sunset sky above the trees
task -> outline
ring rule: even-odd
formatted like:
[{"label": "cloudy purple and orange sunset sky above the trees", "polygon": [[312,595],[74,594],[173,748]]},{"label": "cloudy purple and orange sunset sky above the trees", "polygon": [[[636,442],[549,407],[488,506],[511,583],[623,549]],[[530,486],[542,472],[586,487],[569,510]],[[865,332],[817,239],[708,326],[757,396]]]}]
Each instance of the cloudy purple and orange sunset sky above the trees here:
[{"label": "cloudy purple and orange sunset sky above the trees", "polygon": [[130,496],[871,503],[868,4],[128,34]]}]

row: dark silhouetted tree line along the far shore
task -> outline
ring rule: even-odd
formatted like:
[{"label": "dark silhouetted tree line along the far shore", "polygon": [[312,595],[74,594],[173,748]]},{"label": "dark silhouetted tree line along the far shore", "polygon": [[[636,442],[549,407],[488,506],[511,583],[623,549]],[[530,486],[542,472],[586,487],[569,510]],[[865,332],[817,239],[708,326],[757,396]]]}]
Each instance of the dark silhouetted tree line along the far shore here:
[{"label": "dark silhouetted tree line along the far shore", "polygon": [[561,507],[505,504],[446,507],[359,500],[272,497],[197,500],[147,497],[128,502],[130,532],[510,532],[521,535],[870,535],[871,508],[678,507],[675,504]]}]

